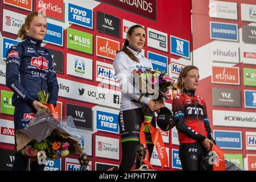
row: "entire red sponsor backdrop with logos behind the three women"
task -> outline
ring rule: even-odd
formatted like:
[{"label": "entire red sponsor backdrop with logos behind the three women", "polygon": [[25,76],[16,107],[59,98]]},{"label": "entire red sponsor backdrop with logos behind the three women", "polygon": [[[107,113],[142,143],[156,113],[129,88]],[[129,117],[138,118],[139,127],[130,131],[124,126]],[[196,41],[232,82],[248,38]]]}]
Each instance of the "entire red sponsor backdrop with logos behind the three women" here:
[{"label": "entire red sponsor backdrop with logos behind the three women", "polygon": [[[143,53],[154,68],[176,80],[185,65],[199,67],[197,94],[207,101],[210,124],[226,158],[255,170],[256,3],[249,0],[1,1],[1,169],[9,170],[14,160],[13,92],[5,85],[6,52],[21,41],[16,33],[24,17],[42,8],[48,24],[43,46],[52,53],[60,88],[57,114],[74,118],[82,136],[79,144],[90,156],[88,170],[116,169],[122,158],[117,119],[121,92],[113,59],[133,24],[147,31]],[[170,108],[176,93],[170,92]],[[160,133],[170,164],[164,169],[180,170],[177,130]],[[47,160],[45,170],[81,170],[77,158]],[[153,152],[152,165],[160,169],[159,164]]]}]

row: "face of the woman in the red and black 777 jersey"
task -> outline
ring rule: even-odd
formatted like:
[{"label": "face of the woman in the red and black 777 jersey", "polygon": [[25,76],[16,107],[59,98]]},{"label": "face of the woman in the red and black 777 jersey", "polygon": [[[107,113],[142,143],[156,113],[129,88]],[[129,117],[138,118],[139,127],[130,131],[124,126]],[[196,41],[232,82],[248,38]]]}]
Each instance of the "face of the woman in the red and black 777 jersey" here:
[{"label": "face of the woman in the red and black 777 jersey", "polygon": [[196,90],[199,85],[199,72],[196,69],[191,69],[187,73],[187,77],[182,78],[184,88],[187,90]]}]

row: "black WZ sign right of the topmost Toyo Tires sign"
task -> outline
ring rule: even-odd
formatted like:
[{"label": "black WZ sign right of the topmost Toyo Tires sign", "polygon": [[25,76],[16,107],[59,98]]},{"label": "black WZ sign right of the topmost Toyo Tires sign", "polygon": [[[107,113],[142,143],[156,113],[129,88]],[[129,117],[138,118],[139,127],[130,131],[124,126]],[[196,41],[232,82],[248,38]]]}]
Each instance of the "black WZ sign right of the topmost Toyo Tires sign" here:
[{"label": "black WZ sign right of the topmost Toyo Tires sign", "polygon": [[120,20],[115,16],[97,11],[97,30],[119,38]]}]

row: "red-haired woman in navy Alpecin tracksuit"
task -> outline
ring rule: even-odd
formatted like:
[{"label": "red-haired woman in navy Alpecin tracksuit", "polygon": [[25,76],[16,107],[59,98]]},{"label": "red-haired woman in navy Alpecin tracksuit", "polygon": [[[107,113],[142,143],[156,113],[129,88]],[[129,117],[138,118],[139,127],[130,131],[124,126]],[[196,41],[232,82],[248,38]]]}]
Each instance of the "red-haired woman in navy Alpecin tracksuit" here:
[{"label": "red-haired woman in navy Alpecin tracksuit", "polygon": [[[46,17],[37,12],[27,15],[18,36],[24,40],[11,47],[6,59],[6,85],[13,90],[14,129],[23,129],[36,111],[47,106],[40,103],[38,93],[50,93],[48,104],[56,106],[59,86],[52,64],[51,53],[41,47],[46,35]],[[16,143],[16,137],[15,137]],[[28,158],[16,152],[13,170],[26,170]],[[31,170],[43,170],[44,165],[32,162]]]}]

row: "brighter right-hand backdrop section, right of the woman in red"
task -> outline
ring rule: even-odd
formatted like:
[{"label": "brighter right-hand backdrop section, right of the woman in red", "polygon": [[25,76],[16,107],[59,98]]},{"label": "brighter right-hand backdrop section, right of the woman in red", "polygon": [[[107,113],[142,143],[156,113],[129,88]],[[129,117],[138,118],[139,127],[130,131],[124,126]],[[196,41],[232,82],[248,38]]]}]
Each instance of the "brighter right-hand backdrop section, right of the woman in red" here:
[{"label": "brighter right-hand backdrop section, right of the woman in red", "polygon": [[256,2],[193,0],[192,9],[197,94],[207,103],[214,139],[226,159],[255,171]]}]

